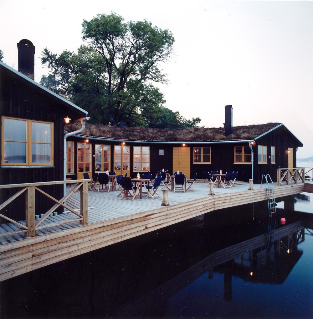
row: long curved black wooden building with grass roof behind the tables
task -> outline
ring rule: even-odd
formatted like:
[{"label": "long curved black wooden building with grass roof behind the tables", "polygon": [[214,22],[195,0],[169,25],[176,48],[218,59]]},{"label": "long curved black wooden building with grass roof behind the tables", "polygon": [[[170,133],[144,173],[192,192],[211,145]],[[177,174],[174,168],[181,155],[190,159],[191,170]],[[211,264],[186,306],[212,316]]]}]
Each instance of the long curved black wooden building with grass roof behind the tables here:
[{"label": "long curved black wooden building with grass roof behind the tables", "polygon": [[[66,131],[76,130],[69,125]],[[263,174],[277,181],[278,168],[294,167],[302,143],[281,123],[232,126],[225,107],[224,128],[142,129],[86,124],[67,142],[67,176],[81,178],[115,171],[135,177],[160,169],[179,170],[188,178],[205,171],[237,171],[237,180],[260,183]]]}]

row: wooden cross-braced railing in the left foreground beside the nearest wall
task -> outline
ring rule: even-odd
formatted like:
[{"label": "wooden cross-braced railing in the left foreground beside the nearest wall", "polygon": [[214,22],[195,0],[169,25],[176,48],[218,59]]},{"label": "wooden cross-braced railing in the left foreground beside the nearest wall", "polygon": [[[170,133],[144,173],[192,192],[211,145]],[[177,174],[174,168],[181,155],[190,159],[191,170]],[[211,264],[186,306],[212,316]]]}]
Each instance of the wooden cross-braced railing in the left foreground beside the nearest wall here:
[{"label": "wooden cross-braced railing in the left foreground beside the nearest wall", "polygon": [[[79,221],[80,224],[88,224],[88,182],[91,180],[71,180],[71,181],[55,181],[55,182],[41,182],[41,183],[26,183],[26,184],[7,184],[7,185],[0,185],[0,189],[8,189],[8,188],[18,188],[18,191],[12,195],[9,199],[7,199],[4,203],[0,204],[0,217],[14,223],[20,230],[16,230],[11,233],[0,234],[2,236],[9,236],[13,234],[19,233],[26,233],[26,237],[35,237],[36,230],[57,226],[61,224],[71,223],[74,221]],[[63,196],[60,200],[52,197],[51,195],[44,192],[40,189],[41,186],[47,185],[60,185],[60,184],[73,184],[76,183],[73,189],[70,190],[68,194]],[[78,189],[80,189],[80,212],[75,211],[68,205],[66,205],[65,201]],[[35,218],[35,211],[36,211],[36,204],[35,204],[35,190],[39,191],[45,197],[51,199],[55,204],[45,213],[41,214],[41,217],[36,220]],[[21,224],[20,222],[13,220],[1,213],[1,210],[10,204],[13,200],[18,198],[21,194],[25,192],[25,225]],[[54,212],[59,206],[63,206],[66,210],[74,213],[77,218],[64,220],[58,223],[47,223],[45,225],[42,222],[50,216],[52,212]]]}]

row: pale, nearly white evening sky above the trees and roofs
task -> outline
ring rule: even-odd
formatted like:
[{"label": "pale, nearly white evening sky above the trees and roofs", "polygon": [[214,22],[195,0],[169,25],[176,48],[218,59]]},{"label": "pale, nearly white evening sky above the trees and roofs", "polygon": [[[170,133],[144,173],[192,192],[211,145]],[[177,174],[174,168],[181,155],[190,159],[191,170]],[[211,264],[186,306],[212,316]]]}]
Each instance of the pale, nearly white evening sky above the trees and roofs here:
[{"label": "pale, nearly white evening sky above the trees and roofs", "polygon": [[83,20],[112,11],[172,32],[167,108],[223,127],[231,104],[233,126],[283,123],[304,144],[297,158],[313,156],[313,1],[0,0],[3,62],[18,69],[17,43],[30,40],[40,82],[45,47],[76,52]]}]

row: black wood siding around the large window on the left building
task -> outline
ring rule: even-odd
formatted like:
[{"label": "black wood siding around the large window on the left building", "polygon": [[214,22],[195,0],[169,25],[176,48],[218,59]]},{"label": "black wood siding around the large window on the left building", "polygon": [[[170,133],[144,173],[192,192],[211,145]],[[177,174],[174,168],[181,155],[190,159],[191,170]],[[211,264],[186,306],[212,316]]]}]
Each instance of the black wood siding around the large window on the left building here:
[{"label": "black wood siding around the large window on the left building", "polygon": [[[36,86],[31,87],[25,79],[18,81],[16,75],[11,76],[10,73],[2,72],[0,87],[2,116],[54,123],[54,167],[1,167],[0,183],[18,184],[63,180],[63,117],[69,112],[63,105],[57,103],[55,97],[49,98],[49,94],[44,91],[40,92],[40,88]],[[49,186],[43,190],[57,199],[63,196],[63,186]],[[17,189],[8,189],[0,192],[0,200],[5,201],[16,191]],[[43,198],[43,195],[37,191],[35,196],[36,214],[44,214],[53,203],[47,200],[47,197]],[[8,206],[5,215],[15,220],[25,219],[25,196],[15,199]]]}]

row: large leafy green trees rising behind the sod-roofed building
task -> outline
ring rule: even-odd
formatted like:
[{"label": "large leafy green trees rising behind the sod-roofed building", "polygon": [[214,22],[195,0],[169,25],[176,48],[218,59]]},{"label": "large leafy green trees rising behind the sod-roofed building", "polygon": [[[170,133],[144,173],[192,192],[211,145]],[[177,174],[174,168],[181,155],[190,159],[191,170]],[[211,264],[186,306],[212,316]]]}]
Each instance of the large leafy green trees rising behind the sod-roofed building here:
[{"label": "large leafy green trees rising behind the sod-roofed building", "polygon": [[[60,55],[47,48],[41,61],[49,67],[40,83],[88,110],[90,122],[128,126],[194,127],[163,105],[164,95],[153,83],[166,84],[161,66],[172,56],[174,38],[148,21],[123,22],[116,13],[84,20],[83,40],[77,53]],[[189,121],[189,122],[188,122]]]}]

